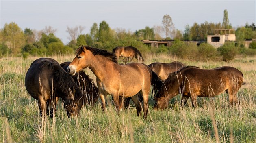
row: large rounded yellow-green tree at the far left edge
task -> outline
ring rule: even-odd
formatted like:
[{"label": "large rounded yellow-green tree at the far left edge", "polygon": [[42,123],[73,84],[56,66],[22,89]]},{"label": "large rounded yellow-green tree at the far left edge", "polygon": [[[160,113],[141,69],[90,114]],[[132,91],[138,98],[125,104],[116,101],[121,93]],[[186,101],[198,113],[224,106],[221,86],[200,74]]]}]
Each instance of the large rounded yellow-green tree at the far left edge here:
[{"label": "large rounded yellow-green tree at the far left edge", "polygon": [[11,49],[11,55],[17,56],[26,42],[22,29],[11,22],[4,25],[2,34],[5,44]]}]

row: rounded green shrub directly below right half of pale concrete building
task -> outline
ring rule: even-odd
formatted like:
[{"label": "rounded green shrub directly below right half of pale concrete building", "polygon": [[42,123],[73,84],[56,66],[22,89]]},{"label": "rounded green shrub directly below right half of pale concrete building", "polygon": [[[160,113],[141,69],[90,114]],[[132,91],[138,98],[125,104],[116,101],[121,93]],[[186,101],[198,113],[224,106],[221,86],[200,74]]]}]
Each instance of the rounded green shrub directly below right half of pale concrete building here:
[{"label": "rounded green shrub directly below right half of pale concrete building", "polygon": [[239,53],[234,42],[226,42],[223,46],[217,48],[217,51],[222,56],[223,61],[231,61]]}]

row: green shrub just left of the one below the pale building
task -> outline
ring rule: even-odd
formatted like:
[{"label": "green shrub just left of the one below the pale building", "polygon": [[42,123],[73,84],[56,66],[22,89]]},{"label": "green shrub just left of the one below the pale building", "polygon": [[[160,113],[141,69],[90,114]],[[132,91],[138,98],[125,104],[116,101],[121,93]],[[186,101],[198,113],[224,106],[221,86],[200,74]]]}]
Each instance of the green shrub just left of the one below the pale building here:
[{"label": "green shrub just left of the one below the pale building", "polygon": [[201,61],[214,60],[217,57],[217,48],[210,44],[202,43],[198,46],[197,57]]}]

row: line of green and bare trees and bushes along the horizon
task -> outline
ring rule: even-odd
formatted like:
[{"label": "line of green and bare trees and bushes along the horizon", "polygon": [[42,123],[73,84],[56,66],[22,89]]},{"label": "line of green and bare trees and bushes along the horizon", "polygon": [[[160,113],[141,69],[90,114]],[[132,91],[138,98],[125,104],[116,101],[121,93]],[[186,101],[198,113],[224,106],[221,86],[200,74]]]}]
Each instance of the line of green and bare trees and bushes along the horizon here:
[{"label": "line of green and bare trees and bushes along the horizon", "polygon": [[[135,46],[142,52],[148,52],[150,47],[143,45],[141,40],[207,40],[207,35],[214,34],[215,29],[232,29],[228,20],[228,11],[224,10],[222,23],[194,23],[186,25],[184,32],[175,28],[170,15],[164,15],[162,25],[146,26],[135,32],[126,29],[111,29],[106,21],[93,23],[90,32],[82,34],[83,26],[67,27],[70,42],[63,42],[54,34],[57,29],[46,26],[42,30],[26,28],[22,30],[15,22],[6,23],[0,29],[0,57],[11,55],[54,55],[72,53],[79,45],[89,45],[101,49],[112,50],[116,46]],[[245,26],[236,28],[236,40],[243,47],[243,40],[256,38],[256,25],[246,23]],[[255,42],[250,45],[256,48]],[[165,49],[164,51],[166,51]],[[152,50],[154,51],[154,50]],[[158,51],[163,51],[158,49]]]}]

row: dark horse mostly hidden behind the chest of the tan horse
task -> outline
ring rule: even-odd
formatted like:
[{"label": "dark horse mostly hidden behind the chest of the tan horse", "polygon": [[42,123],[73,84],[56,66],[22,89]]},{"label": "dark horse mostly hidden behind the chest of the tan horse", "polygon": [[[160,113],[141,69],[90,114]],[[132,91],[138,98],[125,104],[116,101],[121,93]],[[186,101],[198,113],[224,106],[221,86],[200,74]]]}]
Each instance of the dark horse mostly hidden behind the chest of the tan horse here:
[{"label": "dark horse mostly hidden behind the chest of the tan horse", "polygon": [[[71,62],[61,63],[61,67],[67,72],[67,67]],[[81,90],[86,95],[87,105],[94,106],[95,103],[99,99],[98,91],[99,89],[93,83],[93,80],[89,78],[84,71],[80,71],[76,73],[76,75],[72,76],[75,83],[81,88]]]}]

